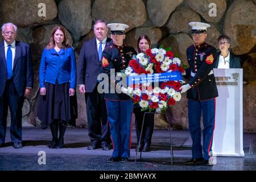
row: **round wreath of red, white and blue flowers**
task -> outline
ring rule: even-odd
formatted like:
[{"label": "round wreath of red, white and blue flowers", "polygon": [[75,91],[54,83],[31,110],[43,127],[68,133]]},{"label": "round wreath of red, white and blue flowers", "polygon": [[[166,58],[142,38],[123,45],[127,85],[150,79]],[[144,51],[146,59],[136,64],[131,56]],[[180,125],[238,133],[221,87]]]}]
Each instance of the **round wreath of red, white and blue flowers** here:
[{"label": "round wreath of red, white and blue flowers", "polygon": [[[136,59],[130,60],[129,67],[122,72],[125,76],[138,76],[154,73],[179,72],[184,73],[184,65],[181,60],[174,56],[171,48],[147,49],[145,53],[139,53]],[[181,77],[182,78],[182,77]],[[180,86],[183,80],[159,82],[160,86],[152,86],[150,82],[128,85],[121,87],[123,93],[129,95],[134,104],[142,107],[142,111],[149,110],[165,113],[167,107],[175,105],[181,100]]]}]

